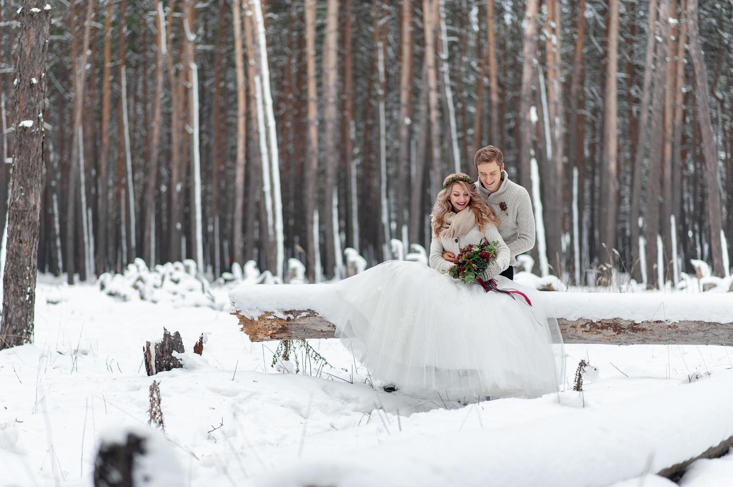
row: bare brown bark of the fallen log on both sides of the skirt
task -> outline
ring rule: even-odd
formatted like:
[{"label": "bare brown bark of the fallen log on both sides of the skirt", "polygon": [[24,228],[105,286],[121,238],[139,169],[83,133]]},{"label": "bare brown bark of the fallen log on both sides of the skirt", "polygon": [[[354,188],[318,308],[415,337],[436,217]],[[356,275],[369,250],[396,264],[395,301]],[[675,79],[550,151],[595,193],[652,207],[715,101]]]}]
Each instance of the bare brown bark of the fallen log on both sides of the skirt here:
[{"label": "bare brown bark of the fallen log on both sides of the skirt", "polygon": [[[239,312],[242,331],[250,341],[334,338],[336,327],[314,310],[264,313],[248,319]],[[733,346],[733,323],[710,321],[631,321],[627,319],[559,318],[565,343],[605,345],[666,344]]]}]

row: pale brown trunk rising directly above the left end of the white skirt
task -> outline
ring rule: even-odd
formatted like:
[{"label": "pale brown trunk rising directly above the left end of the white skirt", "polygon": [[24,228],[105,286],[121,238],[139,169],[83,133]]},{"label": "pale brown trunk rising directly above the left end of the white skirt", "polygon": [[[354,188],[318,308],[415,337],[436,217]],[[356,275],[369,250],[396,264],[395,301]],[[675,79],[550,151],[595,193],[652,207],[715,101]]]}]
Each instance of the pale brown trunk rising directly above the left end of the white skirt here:
[{"label": "pale brown trunk rising directly above the left end of the white skirt", "polygon": [[[336,188],[336,167],[338,166],[338,125],[337,125],[337,90],[339,71],[337,42],[339,37],[339,0],[328,0],[326,10],[325,37],[323,40],[323,146],[325,150],[325,191],[324,219],[325,226],[325,277],[334,278],[336,269],[336,245],[334,239],[339,238],[338,214],[334,216],[334,190]],[[334,221],[336,218],[336,221]]]}]

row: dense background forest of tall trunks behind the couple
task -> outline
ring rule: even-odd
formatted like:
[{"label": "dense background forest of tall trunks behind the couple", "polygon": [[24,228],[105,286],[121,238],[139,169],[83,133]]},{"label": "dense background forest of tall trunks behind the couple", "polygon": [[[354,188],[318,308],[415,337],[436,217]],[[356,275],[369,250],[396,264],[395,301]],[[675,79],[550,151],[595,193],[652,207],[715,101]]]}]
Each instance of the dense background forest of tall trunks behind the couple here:
[{"label": "dense background forest of tall trunks behind the couple", "polygon": [[[0,3],[3,224],[18,5]],[[39,271],[254,259],[282,278],[295,257],[343,276],[345,248],[427,245],[443,177],[476,177],[493,144],[541,204],[537,273],[729,275],[731,32],[729,0],[55,1]]]}]

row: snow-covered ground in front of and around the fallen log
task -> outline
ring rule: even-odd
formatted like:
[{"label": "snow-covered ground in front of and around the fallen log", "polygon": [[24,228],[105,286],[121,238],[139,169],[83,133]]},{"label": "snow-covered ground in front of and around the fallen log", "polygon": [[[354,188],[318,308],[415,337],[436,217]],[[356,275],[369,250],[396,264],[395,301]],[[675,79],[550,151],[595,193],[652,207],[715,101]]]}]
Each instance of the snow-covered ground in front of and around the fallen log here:
[{"label": "snow-covered ground in front of and around the fallen log", "polygon": [[[335,339],[310,342],[330,365],[296,348],[301,373],[272,367],[278,343],[248,341],[226,291],[193,307],[40,283],[34,344],[0,352],[0,486],[92,485],[100,441],[148,428],[153,379],[167,440],[150,485],[664,486],[655,472],[733,435],[733,347],[568,345],[566,392],[465,406],[383,392]],[[204,352],[147,377],[163,327],[187,352],[204,333]],[[597,370],[576,393],[581,359]],[[680,483],[731,478],[728,455]]]}]

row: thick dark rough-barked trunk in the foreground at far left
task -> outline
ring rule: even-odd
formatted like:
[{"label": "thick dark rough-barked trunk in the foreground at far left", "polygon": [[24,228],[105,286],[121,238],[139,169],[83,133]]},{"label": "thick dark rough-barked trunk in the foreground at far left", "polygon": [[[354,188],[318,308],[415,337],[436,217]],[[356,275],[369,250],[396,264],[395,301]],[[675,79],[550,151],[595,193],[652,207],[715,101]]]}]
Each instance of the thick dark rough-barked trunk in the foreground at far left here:
[{"label": "thick dark rough-barked trunk in the foreground at far left", "polygon": [[[45,1],[24,0],[15,62],[15,155],[3,273],[0,350],[32,341],[43,191],[43,111],[51,12]],[[33,10],[36,12],[34,12]]]}]

